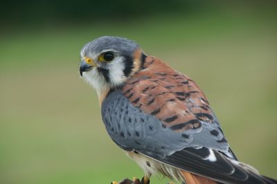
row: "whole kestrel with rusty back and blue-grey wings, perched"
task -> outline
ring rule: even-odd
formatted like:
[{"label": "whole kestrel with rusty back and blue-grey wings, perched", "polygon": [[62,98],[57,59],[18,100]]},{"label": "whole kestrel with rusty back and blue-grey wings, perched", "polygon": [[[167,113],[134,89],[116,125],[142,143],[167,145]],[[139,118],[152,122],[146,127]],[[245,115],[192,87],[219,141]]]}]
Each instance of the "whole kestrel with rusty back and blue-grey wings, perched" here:
[{"label": "whole kestrel with rusty back and blue-grey wings, perched", "polygon": [[189,184],[277,183],[235,157],[196,82],[136,42],[98,37],[80,58],[107,133],[143,169],[141,183],[153,174]]}]

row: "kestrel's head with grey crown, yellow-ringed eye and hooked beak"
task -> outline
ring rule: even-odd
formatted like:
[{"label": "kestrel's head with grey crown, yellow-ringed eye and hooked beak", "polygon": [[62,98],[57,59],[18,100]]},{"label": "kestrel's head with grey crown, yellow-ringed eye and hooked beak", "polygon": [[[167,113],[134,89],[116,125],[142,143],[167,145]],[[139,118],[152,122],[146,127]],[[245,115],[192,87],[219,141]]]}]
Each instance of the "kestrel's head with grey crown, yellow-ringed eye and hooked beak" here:
[{"label": "kestrel's head with grey crown, yellow-ringed eye and hooked beak", "polygon": [[81,50],[80,75],[98,95],[122,85],[139,71],[145,55],[138,44],[121,37],[99,37]]}]

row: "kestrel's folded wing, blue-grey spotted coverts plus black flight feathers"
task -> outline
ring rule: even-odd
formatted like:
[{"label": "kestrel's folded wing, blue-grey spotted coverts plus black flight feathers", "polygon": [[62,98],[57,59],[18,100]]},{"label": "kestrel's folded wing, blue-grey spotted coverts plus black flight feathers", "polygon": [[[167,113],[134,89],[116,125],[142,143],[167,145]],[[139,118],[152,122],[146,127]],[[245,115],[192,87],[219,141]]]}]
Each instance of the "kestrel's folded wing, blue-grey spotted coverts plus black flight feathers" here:
[{"label": "kestrel's folded wing, blue-grey spotted coverts plus black flight feathers", "polygon": [[263,183],[256,174],[235,164],[238,161],[215,116],[213,124],[201,122],[201,129],[177,133],[134,107],[120,90],[115,90],[102,103],[102,120],[111,139],[127,151],[138,151],[215,181]]}]

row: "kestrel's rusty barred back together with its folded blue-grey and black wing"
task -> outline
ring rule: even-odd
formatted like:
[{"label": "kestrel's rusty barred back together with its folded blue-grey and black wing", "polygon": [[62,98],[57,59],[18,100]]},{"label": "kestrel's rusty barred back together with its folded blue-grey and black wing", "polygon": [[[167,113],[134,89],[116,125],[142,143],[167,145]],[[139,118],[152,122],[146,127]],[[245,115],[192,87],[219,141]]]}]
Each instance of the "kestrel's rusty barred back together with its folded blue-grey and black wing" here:
[{"label": "kestrel's rusty barred back together with its folded blue-grey and black wing", "polygon": [[154,57],[148,62],[102,103],[102,119],[114,142],[215,181],[264,183],[235,159],[197,84]]}]

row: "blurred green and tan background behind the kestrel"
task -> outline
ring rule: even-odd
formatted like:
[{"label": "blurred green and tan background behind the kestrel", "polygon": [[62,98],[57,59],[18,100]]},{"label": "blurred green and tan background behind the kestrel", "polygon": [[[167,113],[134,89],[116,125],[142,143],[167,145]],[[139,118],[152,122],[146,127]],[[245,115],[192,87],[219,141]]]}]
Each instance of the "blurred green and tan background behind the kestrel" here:
[{"label": "blurred green and tan background behind the kestrel", "polygon": [[[202,90],[240,160],[277,178],[276,1],[6,1],[0,183],[110,183],[143,172],[106,134],[80,49],[134,39]],[[152,178],[152,183],[166,183]]]}]

